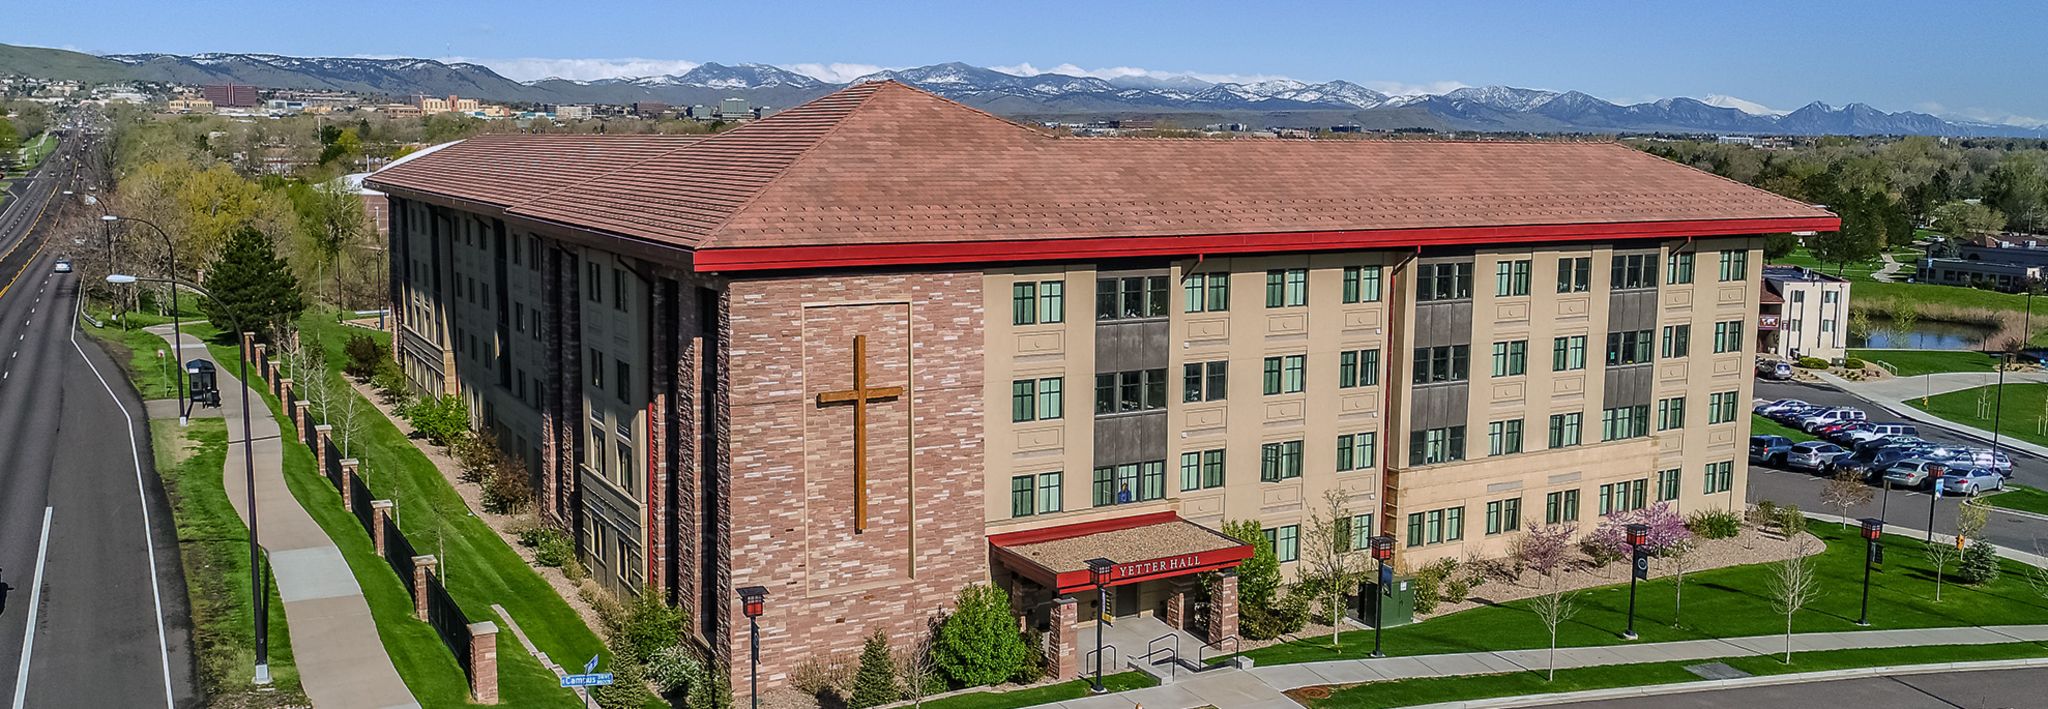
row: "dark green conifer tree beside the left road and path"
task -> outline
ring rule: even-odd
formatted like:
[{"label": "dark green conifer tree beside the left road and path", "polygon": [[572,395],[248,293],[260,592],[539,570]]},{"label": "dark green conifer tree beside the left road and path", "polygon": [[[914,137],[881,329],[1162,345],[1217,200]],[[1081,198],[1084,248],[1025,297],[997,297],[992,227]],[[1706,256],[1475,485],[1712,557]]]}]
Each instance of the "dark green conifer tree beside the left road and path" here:
[{"label": "dark green conifer tree beside the left road and path", "polygon": [[291,264],[276,256],[270,238],[250,225],[227,236],[221,256],[207,266],[205,287],[219,303],[207,299],[201,307],[223,332],[236,332],[240,324],[268,340],[305,311]]}]

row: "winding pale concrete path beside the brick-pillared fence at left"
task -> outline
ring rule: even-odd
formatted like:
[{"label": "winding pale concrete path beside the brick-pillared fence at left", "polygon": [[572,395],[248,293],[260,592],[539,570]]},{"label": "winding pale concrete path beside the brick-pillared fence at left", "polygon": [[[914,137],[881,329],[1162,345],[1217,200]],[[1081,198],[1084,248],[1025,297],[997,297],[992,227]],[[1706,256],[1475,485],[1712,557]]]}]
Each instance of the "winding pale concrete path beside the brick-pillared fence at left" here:
[{"label": "winding pale concrete path beside the brick-pillared fence at left", "polygon": [[[168,326],[147,330],[170,340]],[[184,336],[182,348],[184,361],[213,359],[199,338]],[[213,367],[221,387],[217,412],[227,418],[227,500],[246,523],[248,482],[242,455],[242,393],[236,391],[238,369],[227,363]],[[262,398],[250,391],[250,404],[260,406]],[[256,533],[270,553],[270,574],[276,576],[276,592],[285,600],[291,652],[299,664],[305,697],[322,709],[420,707],[391,666],[383,639],[377,637],[377,621],[362,600],[362,586],[342,559],[342,549],[285,488],[285,441],[279,436],[274,414],[268,408],[254,414],[250,441],[256,449]]]}]

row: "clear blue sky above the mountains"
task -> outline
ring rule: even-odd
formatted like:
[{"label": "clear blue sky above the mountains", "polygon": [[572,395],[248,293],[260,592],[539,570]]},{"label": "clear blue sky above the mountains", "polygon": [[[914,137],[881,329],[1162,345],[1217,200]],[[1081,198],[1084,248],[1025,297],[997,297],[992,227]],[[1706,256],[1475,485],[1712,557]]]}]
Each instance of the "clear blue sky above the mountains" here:
[{"label": "clear blue sky above the mountains", "polygon": [[[303,10],[301,10],[303,8]],[[1530,86],[1632,102],[1739,96],[2048,119],[2048,2],[49,2],[0,43],[80,51],[465,57],[512,78],[694,61],[967,61]],[[604,59],[604,61],[598,61]],[[637,59],[637,61],[627,61]]]}]

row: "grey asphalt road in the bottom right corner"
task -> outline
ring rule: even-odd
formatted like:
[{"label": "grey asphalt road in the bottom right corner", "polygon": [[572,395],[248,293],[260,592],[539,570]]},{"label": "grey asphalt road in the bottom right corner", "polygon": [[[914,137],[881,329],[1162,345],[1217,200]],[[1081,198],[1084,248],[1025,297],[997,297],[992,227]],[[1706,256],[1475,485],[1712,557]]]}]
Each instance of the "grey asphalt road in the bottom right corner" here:
[{"label": "grey asphalt road in the bottom right corner", "polygon": [[1575,709],[1755,709],[1755,707],[1855,707],[1855,709],[2021,709],[2042,707],[2048,670],[1985,670],[1909,674],[1886,678],[1729,689],[1712,693],[1614,699]]}]

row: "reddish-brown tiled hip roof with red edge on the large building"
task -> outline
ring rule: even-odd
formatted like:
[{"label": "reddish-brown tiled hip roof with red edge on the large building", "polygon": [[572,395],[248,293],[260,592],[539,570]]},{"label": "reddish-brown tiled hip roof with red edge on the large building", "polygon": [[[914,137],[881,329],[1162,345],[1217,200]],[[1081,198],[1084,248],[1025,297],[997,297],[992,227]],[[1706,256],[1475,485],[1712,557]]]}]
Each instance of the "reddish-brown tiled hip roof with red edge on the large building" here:
[{"label": "reddish-brown tiled hip roof with red edge on the large building", "polygon": [[[1620,143],[1061,137],[897,82],[850,86],[686,145],[549,139],[494,139],[479,156],[453,145],[371,182],[485,193],[514,217],[694,250],[702,270],[1839,223]],[[510,186],[524,170],[506,170],[504,154],[557,174],[549,189]]]}]

